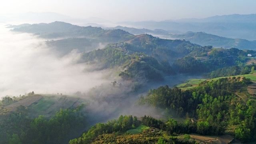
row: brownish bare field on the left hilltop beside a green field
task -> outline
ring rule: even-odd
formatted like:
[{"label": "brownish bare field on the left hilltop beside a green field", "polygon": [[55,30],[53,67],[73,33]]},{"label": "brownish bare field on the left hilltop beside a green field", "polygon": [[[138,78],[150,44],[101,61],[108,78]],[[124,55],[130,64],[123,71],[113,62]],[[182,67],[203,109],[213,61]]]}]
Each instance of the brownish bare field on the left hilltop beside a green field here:
[{"label": "brownish bare field on the left hilltop beside a green field", "polygon": [[40,100],[43,96],[41,95],[33,95],[33,96],[27,96],[25,98],[23,98],[22,100],[19,100],[17,102],[14,102],[12,104],[9,104],[8,106],[5,106],[6,108],[9,108],[11,110],[16,110],[16,108],[20,105],[22,106],[29,106],[30,104],[33,104],[34,102],[37,102],[38,100]]}]

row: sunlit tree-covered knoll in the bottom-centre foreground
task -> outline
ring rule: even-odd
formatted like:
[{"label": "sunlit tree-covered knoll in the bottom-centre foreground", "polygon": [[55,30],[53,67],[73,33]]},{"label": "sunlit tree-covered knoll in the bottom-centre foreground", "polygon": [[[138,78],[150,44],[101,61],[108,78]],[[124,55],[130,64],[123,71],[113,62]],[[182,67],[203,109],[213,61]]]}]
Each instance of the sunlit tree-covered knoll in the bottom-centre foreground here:
[{"label": "sunlit tree-covered knoll in the bottom-centre foreground", "polygon": [[[170,123],[172,122],[172,123]],[[189,125],[192,122],[187,121]],[[177,125],[172,125],[176,123]],[[158,128],[160,130],[167,130],[168,134],[173,134],[172,130],[177,129],[177,133],[187,133],[188,131],[178,131],[178,128],[187,127],[188,124],[177,123],[177,121],[170,119],[168,122],[157,120],[150,116],[144,116],[142,120],[137,120],[134,116],[120,116],[117,120],[108,121],[106,124],[98,123],[92,126],[88,132],[82,134],[80,138],[70,140],[69,144],[89,144],[89,143],[140,143],[148,144],[149,142],[170,142],[175,144],[194,144],[195,140],[189,137],[181,136],[166,136],[160,132],[143,132],[139,135],[132,135],[127,130],[134,129],[140,125]],[[189,126],[188,126],[189,128]],[[157,131],[157,130],[156,130]],[[131,138],[132,137],[132,138]]]}]

